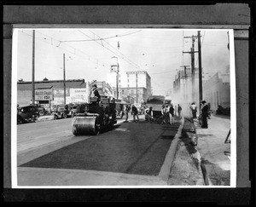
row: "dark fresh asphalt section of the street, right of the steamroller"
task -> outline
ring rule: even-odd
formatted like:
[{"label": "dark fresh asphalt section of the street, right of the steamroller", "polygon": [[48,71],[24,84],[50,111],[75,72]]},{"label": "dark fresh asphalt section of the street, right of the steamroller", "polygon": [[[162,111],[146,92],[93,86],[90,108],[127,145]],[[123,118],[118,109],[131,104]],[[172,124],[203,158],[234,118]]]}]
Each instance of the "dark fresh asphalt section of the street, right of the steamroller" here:
[{"label": "dark fresh asphalt section of the street, right of the steamroller", "polygon": [[[44,169],[57,170],[59,173],[60,170],[85,170],[102,172],[105,175],[118,173],[122,177],[148,176],[140,178],[141,181],[159,175],[180,122],[173,126],[148,124],[144,122],[143,116],[140,116],[139,123],[131,121],[122,123],[123,121],[119,119],[119,124],[116,124],[112,131],[97,136],[87,136],[86,139],[23,162],[19,165],[18,171],[23,172],[21,174],[27,176],[27,179],[24,180],[20,174],[18,175],[20,181],[23,180],[21,182],[26,184],[33,183],[32,176],[28,176],[29,170],[35,172],[37,169],[40,172]],[[150,182],[154,183],[155,180]]]}]

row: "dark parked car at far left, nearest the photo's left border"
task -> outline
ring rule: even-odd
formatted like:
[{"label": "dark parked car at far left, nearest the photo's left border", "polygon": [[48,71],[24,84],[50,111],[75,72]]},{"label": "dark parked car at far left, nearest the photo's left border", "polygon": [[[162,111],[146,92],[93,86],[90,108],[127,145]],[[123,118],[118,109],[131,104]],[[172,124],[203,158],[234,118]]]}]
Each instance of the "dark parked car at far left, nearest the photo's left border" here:
[{"label": "dark parked car at far left, nearest the photo's left border", "polygon": [[17,108],[17,124],[37,122],[39,117],[37,106],[23,106]]}]

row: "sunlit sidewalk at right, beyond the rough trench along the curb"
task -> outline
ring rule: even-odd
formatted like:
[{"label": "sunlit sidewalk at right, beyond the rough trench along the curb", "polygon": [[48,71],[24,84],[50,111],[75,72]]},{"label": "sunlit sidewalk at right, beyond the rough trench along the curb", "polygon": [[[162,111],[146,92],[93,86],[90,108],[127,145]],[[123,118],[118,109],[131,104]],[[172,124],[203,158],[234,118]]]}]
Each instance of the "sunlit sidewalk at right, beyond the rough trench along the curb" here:
[{"label": "sunlit sidewalk at right, beyond the rough trench along the curb", "polygon": [[194,119],[197,150],[206,185],[230,185],[230,143],[224,143],[230,130],[230,117],[212,115],[208,129],[202,129]]}]

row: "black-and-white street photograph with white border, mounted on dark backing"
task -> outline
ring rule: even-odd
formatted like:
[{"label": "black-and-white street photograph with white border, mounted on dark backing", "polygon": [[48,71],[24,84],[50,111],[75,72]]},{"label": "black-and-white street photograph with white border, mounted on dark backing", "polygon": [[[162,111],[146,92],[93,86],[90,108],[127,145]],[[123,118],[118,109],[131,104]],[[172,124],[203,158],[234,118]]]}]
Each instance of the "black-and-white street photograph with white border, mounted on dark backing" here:
[{"label": "black-and-white street photograph with white border, mounted on dark backing", "polygon": [[16,28],[12,187],[236,187],[231,29]]}]

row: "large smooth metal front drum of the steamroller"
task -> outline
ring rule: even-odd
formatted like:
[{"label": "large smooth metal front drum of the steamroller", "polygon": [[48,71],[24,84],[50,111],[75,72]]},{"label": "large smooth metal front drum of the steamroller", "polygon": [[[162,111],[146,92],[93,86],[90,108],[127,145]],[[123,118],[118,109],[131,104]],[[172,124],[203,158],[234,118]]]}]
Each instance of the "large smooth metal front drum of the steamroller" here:
[{"label": "large smooth metal front drum of the steamroller", "polygon": [[98,117],[73,117],[73,135],[98,135],[100,124]]}]

